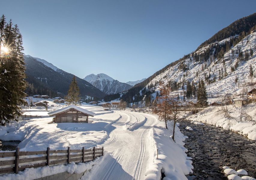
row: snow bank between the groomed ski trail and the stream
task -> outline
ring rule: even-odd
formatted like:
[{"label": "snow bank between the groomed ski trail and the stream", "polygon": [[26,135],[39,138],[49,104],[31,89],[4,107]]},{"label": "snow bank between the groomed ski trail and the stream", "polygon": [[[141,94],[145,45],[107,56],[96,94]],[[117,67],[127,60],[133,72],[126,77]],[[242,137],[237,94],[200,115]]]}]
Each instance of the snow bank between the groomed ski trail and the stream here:
[{"label": "snow bank between the groomed ski trail and the stream", "polygon": [[[175,128],[175,142],[171,139],[173,123],[168,122],[168,128],[164,128],[164,122],[158,121],[153,127],[152,138],[158,149],[158,159],[154,159],[148,165],[145,173],[145,180],[161,179],[161,170],[165,173],[164,179],[183,180],[185,175],[192,172],[192,161],[186,155],[187,149],[184,148],[185,137],[179,128]],[[156,149],[155,154],[156,157]]]}]

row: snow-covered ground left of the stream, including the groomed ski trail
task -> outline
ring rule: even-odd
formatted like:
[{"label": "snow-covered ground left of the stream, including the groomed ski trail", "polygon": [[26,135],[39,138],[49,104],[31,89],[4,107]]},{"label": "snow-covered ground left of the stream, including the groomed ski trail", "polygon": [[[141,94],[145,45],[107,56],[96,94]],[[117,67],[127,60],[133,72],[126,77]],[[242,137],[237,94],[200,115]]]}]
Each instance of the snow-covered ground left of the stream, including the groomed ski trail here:
[{"label": "snow-covered ground left of the stream, including the groomed ski trail", "polygon": [[[182,180],[192,172],[191,158],[187,157],[187,149],[183,147],[185,136],[178,127],[175,143],[170,137],[172,125],[169,124],[169,129],[165,129],[164,122],[158,121],[154,115],[104,111],[102,107],[89,105],[80,106],[96,113],[94,117],[89,117],[89,123],[52,123],[52,117],[47,113],[61,106],[50,106],[48,110],[25,110],[26,115],[41,117],[15,122],[2,128],[0,139],[20,140],[20,151],[46,150],[47,147],[54,150],[67,149],[68,146],[71,149],[104,146],[108,153],[82,179],[160,179],[162,170],[167,179]],[[66,171],[65,168],[60,168],[60,171]],[[13,174],[2,178],[29,179],[32,177],[29,174],[33,174],[31,171],[20,172],[20,176]],[[44,171],[45,168],[38,169],[38,176],[45,176]]]}]

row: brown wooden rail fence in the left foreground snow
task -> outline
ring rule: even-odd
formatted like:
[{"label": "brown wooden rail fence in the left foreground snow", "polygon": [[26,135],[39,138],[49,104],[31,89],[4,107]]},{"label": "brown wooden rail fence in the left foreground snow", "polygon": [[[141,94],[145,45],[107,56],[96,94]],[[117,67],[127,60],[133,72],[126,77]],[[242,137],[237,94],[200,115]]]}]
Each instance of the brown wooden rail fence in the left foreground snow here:
[{"label": "brown wooden rail fence in the left foreground snow", "polygon": [[25,151],[20,152],[16,147],[15,152],[0,152],[0,174],[18,173],[30,167],[53,166],[69,164],[70,162],[89,162],[96,157],[103,156],[104,148],[93,149],[70,149],[46,151]]}]

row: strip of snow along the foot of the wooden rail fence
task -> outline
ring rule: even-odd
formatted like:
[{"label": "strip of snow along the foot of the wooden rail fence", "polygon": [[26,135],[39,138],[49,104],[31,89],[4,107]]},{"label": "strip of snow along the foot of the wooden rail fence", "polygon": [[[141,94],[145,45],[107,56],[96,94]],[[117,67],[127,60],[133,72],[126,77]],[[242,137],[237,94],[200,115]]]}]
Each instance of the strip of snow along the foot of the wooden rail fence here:
[{"label": "strip of snow along the foot of the wooden rail fence", "polygon": [[7,174],[0,176],[0,180],[32,180],[63,172],[79,174],[86,170],[90,170],[95,164],[101,164],[104,161],[106,154],[107,152],[104,152],[104,156],[97,157],[94,161],[87,163],[75,164],[74,162],[71,162],[71,164],[67,165],[26,168],[24,171],[21,171],[18,174]]}]

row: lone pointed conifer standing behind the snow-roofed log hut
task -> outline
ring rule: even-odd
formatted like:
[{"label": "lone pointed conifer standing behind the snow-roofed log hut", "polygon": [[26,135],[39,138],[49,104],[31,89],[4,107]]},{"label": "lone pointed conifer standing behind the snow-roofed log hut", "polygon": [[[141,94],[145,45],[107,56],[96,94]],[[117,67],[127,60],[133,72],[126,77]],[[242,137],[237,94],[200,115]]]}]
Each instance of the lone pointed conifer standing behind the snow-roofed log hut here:
[{"label": "lone pointed conifer standing behind the snow-roofed log hut", "polygon": [[68,89],[68,95],[65,97],[65,101],[67,101],[68,104],[72,104],[72,105],[78,104],[80,99],[79,95],[80,95],[80,90],[79,90],[79,87],[77,86],[76,76],[74,76],[70,83],[70,86]]}]

